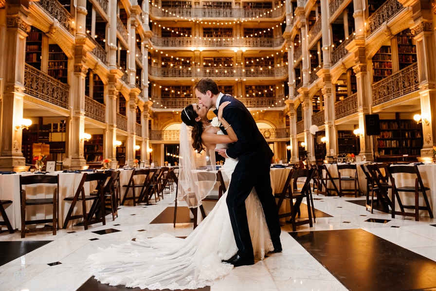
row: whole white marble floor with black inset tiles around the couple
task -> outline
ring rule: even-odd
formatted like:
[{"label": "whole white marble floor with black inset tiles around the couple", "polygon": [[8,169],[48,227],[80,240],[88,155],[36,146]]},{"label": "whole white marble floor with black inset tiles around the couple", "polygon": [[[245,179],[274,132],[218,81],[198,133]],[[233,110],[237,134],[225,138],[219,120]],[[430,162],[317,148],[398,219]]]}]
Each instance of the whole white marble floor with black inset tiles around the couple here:
[{"label": "whole white marble floor with black inset tiles around the couple", "polygon": [[[436,219],[391,218],[365,211],[363,197],[314,195],[316,223],[282,226],[283,252],[270,253],[253,266],[235,268],[202,291],[361,291],[436,290]],[[302,207],[301,218],[307,217]],[[173,227],[174,193],[157,203],[120,206],[119,217],[91,225],[34,233],[0,233],[1,290],[127,291],[100,284],[87,269],[98,248],[162,233],[186,237],[192,219],[178,207]],[[4,229],[4,227],[3,227]],[[136,289],[133,289],[136,290]]]}]

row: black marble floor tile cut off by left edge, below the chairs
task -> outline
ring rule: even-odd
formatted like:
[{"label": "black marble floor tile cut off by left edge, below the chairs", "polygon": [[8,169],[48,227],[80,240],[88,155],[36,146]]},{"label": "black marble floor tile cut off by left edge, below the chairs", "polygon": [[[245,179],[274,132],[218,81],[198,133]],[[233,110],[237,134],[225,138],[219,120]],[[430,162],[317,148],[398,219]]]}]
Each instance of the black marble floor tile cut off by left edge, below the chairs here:
[{"label": "black marble floor tile cut off by left edge, below the chairs", "polygon": [[52,240],[0,241],[0,266],[28,254]]}]

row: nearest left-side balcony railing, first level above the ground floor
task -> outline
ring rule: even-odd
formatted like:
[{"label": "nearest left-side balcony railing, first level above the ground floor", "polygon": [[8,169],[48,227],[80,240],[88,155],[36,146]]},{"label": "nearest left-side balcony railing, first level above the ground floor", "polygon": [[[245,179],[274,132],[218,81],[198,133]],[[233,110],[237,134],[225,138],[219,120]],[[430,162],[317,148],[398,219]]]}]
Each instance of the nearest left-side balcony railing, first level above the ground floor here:
[{"label": "nearest left-side balcony railing, first level above the ground floor", "polygon": [[27,64],[24,69],[24,87],[29,95],[68,109],[70,86]]}]

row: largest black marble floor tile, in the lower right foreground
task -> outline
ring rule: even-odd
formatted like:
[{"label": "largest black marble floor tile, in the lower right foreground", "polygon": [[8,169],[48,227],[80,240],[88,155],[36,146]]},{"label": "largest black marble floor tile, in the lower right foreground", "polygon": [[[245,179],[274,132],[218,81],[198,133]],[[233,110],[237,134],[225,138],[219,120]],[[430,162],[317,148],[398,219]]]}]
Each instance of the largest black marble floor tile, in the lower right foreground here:
[{"label": "largest black marble floor tile, in the lower right foreground", "polygon": [[435,290],[435,261],[362,229],[289,234],[348,290]]}]

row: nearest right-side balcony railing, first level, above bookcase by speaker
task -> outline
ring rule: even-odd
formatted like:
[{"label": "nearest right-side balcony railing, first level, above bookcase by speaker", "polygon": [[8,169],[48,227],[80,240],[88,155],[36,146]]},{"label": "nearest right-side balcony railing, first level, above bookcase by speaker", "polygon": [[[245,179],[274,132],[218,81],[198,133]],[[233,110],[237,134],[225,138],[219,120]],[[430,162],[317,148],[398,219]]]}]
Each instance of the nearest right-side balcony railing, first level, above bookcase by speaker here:
[{"label": "nearest right-side balcony railing, first level, above bookcase by speaker", "polygon": [[412,64],[372,85],[373,106],[419,90],[418,64]]}]

